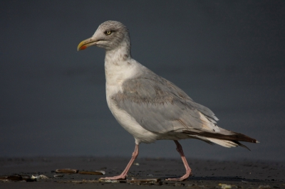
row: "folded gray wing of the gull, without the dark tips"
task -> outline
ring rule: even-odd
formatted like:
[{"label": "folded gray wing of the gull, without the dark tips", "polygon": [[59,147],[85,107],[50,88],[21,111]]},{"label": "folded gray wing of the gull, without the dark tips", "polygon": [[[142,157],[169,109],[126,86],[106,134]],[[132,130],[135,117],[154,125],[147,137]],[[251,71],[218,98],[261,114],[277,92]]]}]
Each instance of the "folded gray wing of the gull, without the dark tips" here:
[{"label": "folded gray wing of the gull, without the dark tips", "polygon": [[210,109],[195,103],[179,87],[150,70],[123,82],[123,92],[112,99],[148,131],[164,134],[183,129],[219,129],[215,125],[218,119]]}]

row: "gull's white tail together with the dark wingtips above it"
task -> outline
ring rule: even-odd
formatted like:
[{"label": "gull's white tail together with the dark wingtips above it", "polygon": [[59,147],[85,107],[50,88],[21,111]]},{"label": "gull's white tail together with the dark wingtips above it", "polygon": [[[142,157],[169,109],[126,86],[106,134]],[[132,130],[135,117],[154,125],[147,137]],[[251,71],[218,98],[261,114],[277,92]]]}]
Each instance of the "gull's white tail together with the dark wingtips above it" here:
[{"label": "gull's white tail together with the dark wingtips above it", "polygon": [[221,129],[219,133],[211,131],[201,131],[198,129],[183,130],[182,133],[190,134],[192,136],[202,136],[203,139],[207,139],[207,141],[209,141],[210,143],[219,144],[227,148],[242,146],[244,148],[247,148],[249,151],[250,149],[244,144],[239,143],[239,141],[259,143],[257,139],[252,139],[247,135],[228,131],[222,128],[219,129]]}]

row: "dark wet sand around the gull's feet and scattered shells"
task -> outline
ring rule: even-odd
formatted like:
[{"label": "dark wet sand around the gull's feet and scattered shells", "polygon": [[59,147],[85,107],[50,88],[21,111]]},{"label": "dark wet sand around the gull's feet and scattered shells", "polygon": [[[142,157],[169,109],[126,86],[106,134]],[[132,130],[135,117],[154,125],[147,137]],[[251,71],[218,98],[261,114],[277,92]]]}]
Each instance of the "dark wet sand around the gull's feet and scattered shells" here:
[{"label": "dark wet sand around the gull's feet and scattered shells", "polygon": [[[285,188],[285,163],[274,161],[207,161],[191,160],[192,177],[182,182],[167,181],[185,173],[179,158],[138,158],[120,183],[101,183],[103,176],[118,175],[128,158],[115,157],[34,157],[0,158],[0,175],[46,175],[50,179],[33,182],[0,180],[0,188]],[[56,173],[56,169],[73,168],[79,171],[105,171],[105,175]],[[54,178],[53,175],[63,175]],[[138,180],[130,183],[131,179]],[[142,182],[140,179],[157,180]],[[32,181],[32,180],[31,180]],[[224,185],[222,185],[224,184]]]}]

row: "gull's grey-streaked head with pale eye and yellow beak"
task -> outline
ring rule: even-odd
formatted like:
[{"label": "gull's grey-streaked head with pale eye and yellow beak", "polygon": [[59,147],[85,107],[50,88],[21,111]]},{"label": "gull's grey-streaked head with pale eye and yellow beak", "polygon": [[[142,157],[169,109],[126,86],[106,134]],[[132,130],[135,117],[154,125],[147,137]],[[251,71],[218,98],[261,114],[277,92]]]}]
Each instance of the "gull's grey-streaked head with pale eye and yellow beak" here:
[{"label": "gull's grey-streaked head with pale eye and yellow beak", "polygon": [[84,50],[93,45],[105,50],[113,50],[120,45],[130,46],[128,28],[118,21],[105,21],[100,24],[91,38],[79,43],[77,50]]}]

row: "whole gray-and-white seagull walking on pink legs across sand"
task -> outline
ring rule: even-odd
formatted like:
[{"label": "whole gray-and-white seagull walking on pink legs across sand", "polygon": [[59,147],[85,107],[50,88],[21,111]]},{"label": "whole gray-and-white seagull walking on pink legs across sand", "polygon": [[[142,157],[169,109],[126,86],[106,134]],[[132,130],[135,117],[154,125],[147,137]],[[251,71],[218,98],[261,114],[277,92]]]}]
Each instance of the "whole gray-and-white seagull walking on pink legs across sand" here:
[{"label": "whole gray-and-white seagull walking on pink legs across sand", "polygon": [[93,45],[105,49],[106,99],[110,112],[135,138],[135,151],[123,173],[100,179],[126,179],[138,156],[140,143],[175,142],[186,173],[180,178],[167,180],[177,181],[192,175],[178,142],[181,139],[199,139],[227,148],[247,148],[239,141],[259,143],[249,136],[217,126],[219,119],[209,108],[194,102],[172,82],[134,60],[130,55],[130,34],[123,23],[101,23],[91,38],[79,43],[77,50]]}]

